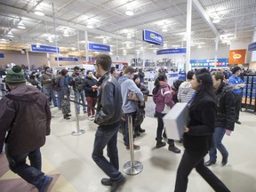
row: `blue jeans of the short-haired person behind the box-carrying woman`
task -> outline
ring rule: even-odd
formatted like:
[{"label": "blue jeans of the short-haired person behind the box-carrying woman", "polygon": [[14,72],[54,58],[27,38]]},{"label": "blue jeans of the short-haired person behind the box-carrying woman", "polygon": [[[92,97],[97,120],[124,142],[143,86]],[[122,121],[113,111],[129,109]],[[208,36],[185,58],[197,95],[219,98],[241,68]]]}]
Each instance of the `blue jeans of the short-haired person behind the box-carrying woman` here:
[{"label": "blue jeans of the short-haired person behind the box-carrying woman", "polygon": [[213,147],[209,151],[210,155],[210,161],[216,162],[217,159],[217,150],[220,151],[220,154],[223,157],[228,157],[228,151],[224,147],[224,145],[221,143],[221,140],[223,139],[225,135],[226,129],[223,127],[215,127],[214,133],[213,133]]}]

